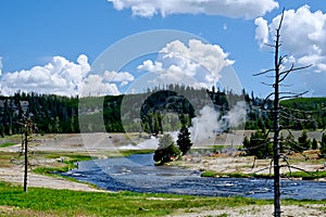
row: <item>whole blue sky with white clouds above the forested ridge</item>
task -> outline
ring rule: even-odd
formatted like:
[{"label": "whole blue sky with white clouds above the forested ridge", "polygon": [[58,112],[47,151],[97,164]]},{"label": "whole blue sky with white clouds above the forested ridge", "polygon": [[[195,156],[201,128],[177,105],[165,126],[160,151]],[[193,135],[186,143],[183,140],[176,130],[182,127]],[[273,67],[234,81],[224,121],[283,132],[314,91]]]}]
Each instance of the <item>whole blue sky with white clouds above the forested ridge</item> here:
[{"label": "whole blue sky with white clouds above the forested ridge", "polygon": [[1,0],[1,93],[120,94],[177,82],[264,97],[267,78],[252,75],[273,67],[265,43],[283,8],[286,63],[313,64],[289,77],[289,89],[326,95],[322,0]]}]

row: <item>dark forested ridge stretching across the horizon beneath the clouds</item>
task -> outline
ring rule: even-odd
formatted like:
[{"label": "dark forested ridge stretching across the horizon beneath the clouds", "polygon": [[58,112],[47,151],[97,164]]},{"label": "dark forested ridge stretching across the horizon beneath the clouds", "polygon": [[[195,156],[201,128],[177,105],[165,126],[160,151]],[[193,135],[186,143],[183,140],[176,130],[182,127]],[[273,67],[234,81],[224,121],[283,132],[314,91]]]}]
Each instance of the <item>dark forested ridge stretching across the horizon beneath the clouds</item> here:
[{"label": "dark forested ridge stretching across the horizon beneath the clouds", "polygon": [[[79,132],[78,116],[82,114],[82,131],[123,132],[147,131],[159,133],[177,130],[181,125],[191,125],[191,118],[205,106],[214,106],[220,117],[238,102],[246,101],[246,129],[272,128],[273,101],[264,101],[244,90],[241,94],[233,91],[195,89],[184,86],[155,88],[146,93],[106,95],[103,98],[61,97],[16,92],[12,97],[0,97],[0,135],[21,132],[23,117],[30,117],[39,133]],[[309,119],[283,120],[291,129],[316,129],[326,126],[326,98],[298,98],[281,101],[285,114]],[[83,106],[80,106],[83,105]],[[78,107],[79,106],[79,107]],[[304,111],[304,112],[303,112]],[[79,113],[79,115],[78,115]],[[102,118],[103,117],[103,118]],[[104,126],[88,122],[102,118]],[[166,122],[168,119],[168,122]],[[140,122],[141,125],[139,125]],[[87,125],[87,126],[85,126]],[[141,126],[141,129],[139,128]]]}]

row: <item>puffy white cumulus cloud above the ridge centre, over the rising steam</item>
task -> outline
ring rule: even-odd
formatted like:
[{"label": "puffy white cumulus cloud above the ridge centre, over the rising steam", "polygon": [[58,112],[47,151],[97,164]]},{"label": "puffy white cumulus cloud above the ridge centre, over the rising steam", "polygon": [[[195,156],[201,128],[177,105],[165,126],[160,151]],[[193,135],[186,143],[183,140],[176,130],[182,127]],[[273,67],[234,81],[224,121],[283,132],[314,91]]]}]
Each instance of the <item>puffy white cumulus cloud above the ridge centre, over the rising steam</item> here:
[{"label": "puffy white cumulus cloud above the ridge centre, over the rising steam", "polygon": [[221,71],[234,64],[228,53],[217,44],[191,39],[188,44],[179,40],[161,49],[155,61],[147,60],[137,68],[154,73],[154,85],[183,84],[195,88],[210,88],[221,78]]}]

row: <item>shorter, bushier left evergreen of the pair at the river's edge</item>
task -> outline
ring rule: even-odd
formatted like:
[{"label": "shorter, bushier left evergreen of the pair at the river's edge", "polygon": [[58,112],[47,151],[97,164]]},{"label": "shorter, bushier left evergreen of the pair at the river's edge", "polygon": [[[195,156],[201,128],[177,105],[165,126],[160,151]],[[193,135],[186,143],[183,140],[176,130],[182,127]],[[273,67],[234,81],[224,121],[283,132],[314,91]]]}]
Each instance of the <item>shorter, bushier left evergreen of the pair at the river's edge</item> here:
[{"label": "shorter, bushier left evergreen of the pair at the river's edge", "polygon": [[159,148],[154,153],[153,159],[160,165],[172,162],[173,158],[180,155],[180,150],[178,150],[173,141],[170,133],[164,135],[159,140]]}]

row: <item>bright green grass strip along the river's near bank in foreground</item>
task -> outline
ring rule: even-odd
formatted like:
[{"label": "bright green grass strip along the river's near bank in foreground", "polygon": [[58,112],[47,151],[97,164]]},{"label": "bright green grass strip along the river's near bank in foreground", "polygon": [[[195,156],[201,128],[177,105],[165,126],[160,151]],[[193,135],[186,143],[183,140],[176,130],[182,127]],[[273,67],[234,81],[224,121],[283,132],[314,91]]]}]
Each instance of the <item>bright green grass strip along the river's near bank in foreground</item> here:
[{"label": "bright green grass strip along the river's near bank in foreground", "polygon": [[[28,188],[0,182],[0,206],[16,207],[16,215],[53,216],[162,216],[179,208],[227,208],[249,204],[265,205],[272,201],[242,197],[204,197],[156,193],[102,193]],[[141,207],[141,208],[139,208]],[[140,210],[141,209],[141,210]]]}]

